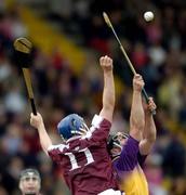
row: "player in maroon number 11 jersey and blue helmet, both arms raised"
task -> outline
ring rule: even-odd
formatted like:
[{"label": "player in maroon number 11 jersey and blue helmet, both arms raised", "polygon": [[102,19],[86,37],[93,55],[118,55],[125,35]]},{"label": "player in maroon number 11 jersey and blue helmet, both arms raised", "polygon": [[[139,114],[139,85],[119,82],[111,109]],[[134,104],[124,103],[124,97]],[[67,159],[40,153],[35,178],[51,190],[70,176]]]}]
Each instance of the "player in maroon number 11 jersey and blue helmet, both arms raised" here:
[{"label": "player in maroon number 11 jersey and blue helmet, both arms raised", "polygon": [[112,60],[99,58],[104,75],[103,108],[95,115],[89,129],[77,114],[63,118],[57,130],[63,143],[53,145],[41,115],[31,114],[30,123],[38,129],[43,151],[63,170],[72,195],[121,195],[115,180],[107,139],[115,107]]}]

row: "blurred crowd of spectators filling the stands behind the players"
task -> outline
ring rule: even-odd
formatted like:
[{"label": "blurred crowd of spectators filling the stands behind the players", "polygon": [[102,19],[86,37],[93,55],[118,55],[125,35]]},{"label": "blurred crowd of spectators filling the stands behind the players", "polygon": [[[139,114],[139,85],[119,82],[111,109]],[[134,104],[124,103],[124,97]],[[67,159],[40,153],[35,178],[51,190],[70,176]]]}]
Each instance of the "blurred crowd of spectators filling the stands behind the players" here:
[{"label": "blurred crowd of spectators filling the stands behind the players", "polygon": [[[103,75],[98,58],[105,54],[114,58],[115,75],[123,83],[111,131],[128,132],[132,74],[103,20],[102,12],[106,11],[136,70],[143,75],[146,91],[158,106],[157,142],[144,168],[151,195],[186,194],[186,2],[25,2],[38,11],[44,4],[42,16],[55,22],[87,51],[84,68],[77,75],[64,56],[54,53],[49,56],[34,47],[30,70],[36,104],[53,142],[61,142],[56,125],[63,116],[78,113],[90,123],[101,109]],[[155,13],[150,23],[143,18],[146,10]],[[43,194],[68,195],[58,168],[41,152],[37,131],[29,125],[31,109],[13,50],[17,37],[29,37],[18,6],[6,9],[5,1],[0,1],[0,195],[18,194],[19,172],[28,167],[40,171]]]}]

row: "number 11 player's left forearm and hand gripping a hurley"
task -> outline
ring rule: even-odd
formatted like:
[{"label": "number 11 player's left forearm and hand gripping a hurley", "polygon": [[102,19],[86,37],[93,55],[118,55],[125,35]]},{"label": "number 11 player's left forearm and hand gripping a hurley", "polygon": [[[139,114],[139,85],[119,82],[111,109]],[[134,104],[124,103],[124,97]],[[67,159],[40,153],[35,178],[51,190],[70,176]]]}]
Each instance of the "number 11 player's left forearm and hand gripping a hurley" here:
[{"label": "number 11 player's left forearm and hand gripping a hurley", "polygon": [[52,145],[52,141],[45,130],[42,116],[39,113],[37,113],[37,116],[31,113],[30,125],[38,130],[41,147],[48,155],[48,148]]}]

